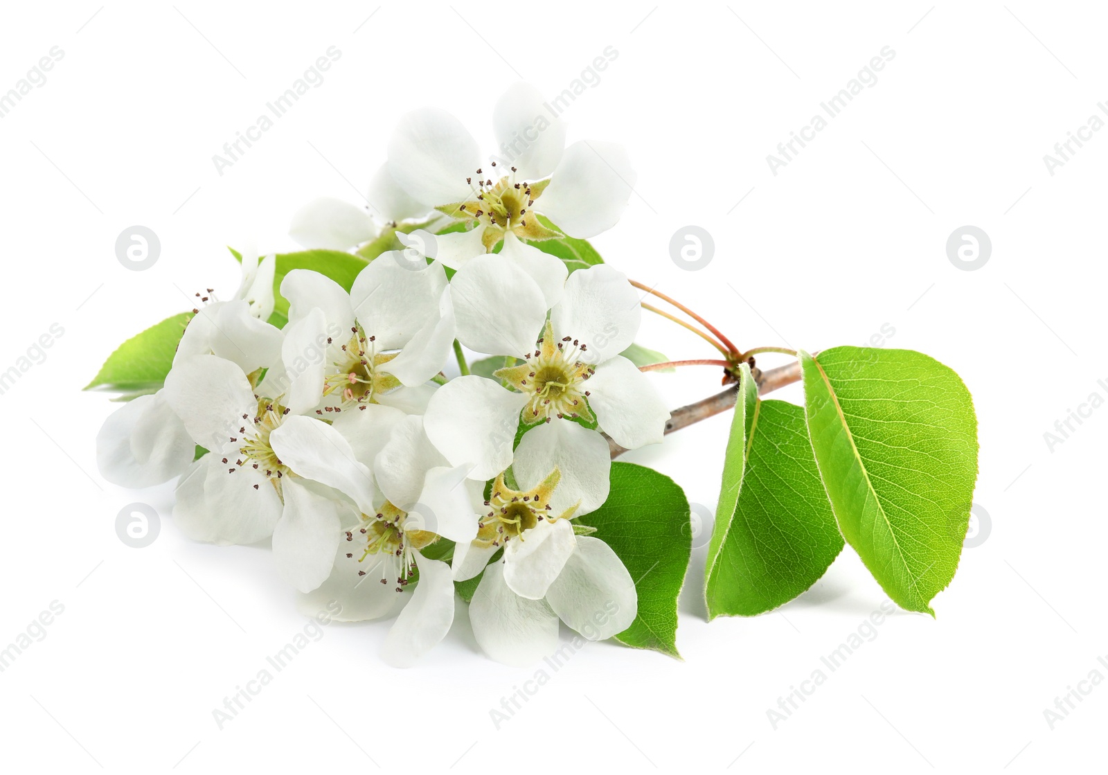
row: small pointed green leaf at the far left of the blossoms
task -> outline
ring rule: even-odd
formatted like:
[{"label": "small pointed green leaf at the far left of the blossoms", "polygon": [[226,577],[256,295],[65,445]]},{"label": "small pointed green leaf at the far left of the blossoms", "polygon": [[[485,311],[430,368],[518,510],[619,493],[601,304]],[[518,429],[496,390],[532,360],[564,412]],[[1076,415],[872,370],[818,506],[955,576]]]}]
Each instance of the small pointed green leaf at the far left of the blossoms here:
[{"label": "small pointed green leaf at the far left of the blossoms", "polygon": [[161,388],[192,317],[192,313],[174,315],[124,341],[84,389],[116,390],[133,394],[134,398]]}]

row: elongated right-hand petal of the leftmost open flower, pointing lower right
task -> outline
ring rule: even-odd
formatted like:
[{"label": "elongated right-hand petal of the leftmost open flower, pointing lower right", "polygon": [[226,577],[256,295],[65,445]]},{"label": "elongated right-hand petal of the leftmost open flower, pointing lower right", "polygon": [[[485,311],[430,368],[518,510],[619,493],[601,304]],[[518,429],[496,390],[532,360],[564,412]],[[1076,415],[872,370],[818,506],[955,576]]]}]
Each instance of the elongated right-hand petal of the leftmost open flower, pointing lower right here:
[{"label": "elongated right-hand petal of the leftmost open flower, pointing lower right", "polygon": [[369,469],[358,462],[347,440],[322,420],[289,416],[269,434],[269,445],[294,473],[334,487],[362,513],[375,512]]}]

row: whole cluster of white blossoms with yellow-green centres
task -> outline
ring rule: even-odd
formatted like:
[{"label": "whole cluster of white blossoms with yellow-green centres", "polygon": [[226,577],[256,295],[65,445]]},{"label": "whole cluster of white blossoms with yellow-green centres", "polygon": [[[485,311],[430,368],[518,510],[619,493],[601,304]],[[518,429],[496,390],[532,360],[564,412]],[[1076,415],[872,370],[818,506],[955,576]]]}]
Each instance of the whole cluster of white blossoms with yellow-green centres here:
[{"label": "whole cluster of white blossoms with yellow-green centres", "polygon": [[[570,274],[527,244],[561,236],[555,226],[582,238],[611,227],[634,173],[618,147],[565,147],[557,119],[536,130],[541,105],[523,84],[504,95],[494,128],[511,160],[489,163],[453,116],[403,116],[370,195],[381,218],[320,200],[291,233],[357,249],[387,226],[425,231],[398,230],[407,249],[376,256],[349,293],[318,272],[286,274],[283,328],[266,322],[274,257],[245,256],[242,288],[197,310],[164,387],[98,438],[112,482],[179,477],[173,517],[188,537],[271,539],[307,609],[396,615],[392,664],[442,640],[455,582],[482,572],[473,632],[509,664],[554,651],[560,620],[599,640],[636,616],[627,570],[576,520],[608,497],[604,434],[640,447],[669,419],[619,355],[638,293],[608,265]],[[432,233],[451,223],[461,231]],[[470,375],[462,361],[448,378],[456,343],[503,368]]]}]

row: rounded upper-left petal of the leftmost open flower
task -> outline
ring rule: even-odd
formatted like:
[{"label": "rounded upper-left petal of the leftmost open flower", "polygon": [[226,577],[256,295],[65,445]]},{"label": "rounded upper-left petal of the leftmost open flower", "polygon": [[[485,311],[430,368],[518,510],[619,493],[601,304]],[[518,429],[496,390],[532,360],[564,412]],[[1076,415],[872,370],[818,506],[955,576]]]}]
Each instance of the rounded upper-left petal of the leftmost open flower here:
[{"label": "rounded upper-left petal of the leftmost open flower", "polygon": [[258,409],[243,369],[214,355],[178,359],[163,392],[193,441],[212,451],[233,446],[243,416],[254,417]]}]

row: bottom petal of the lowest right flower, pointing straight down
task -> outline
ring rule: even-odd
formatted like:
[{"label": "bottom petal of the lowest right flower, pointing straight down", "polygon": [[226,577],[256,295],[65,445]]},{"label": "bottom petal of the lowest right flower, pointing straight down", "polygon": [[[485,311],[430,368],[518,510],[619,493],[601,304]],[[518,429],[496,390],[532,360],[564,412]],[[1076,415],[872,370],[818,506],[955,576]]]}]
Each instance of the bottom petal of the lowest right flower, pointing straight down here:
[{"label": "bottom petal of the lowest right flower, pointing straight down", "polygon": [[504,563],[485,569],[470,603],[473,636],[489,656],[526,667],[557,647],[557,615],[545,600],[521,598],[504,582]]}]

